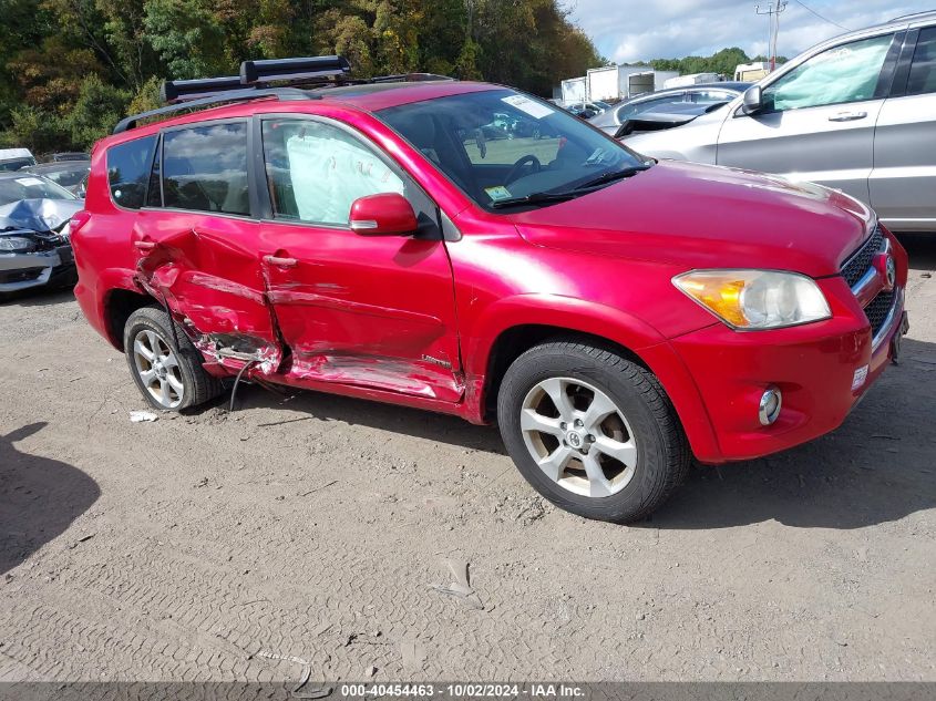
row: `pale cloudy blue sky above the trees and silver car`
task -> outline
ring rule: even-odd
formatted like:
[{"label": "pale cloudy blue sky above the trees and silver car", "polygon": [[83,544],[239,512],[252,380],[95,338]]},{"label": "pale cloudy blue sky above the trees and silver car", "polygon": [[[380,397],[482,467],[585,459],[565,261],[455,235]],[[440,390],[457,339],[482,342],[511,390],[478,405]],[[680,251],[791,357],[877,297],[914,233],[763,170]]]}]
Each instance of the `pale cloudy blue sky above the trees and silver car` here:
[{"label": "pale cloudy blue sky above the trees and silver car", "polygon": [[[566,0],[572,18],[601,55],[616,63],[710,55],[740,47],[767,54],[771,0]],[[811,13],[809,7],[826,18]],[[813,44],[911,12],[936,10],[936,0],[789,0],[780,16],[778,53],[792,58]],[[836,27],[832,22],[841,24]]]}]

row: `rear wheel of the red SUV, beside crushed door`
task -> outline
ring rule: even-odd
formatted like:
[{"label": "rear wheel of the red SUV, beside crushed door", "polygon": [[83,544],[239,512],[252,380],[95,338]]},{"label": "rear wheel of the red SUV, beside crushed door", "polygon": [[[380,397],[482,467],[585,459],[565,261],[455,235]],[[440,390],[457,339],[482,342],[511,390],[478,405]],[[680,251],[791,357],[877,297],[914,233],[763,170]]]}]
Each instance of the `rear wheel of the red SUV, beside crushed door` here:
[{"label": "rear wheel of the red SUV, beside crushed door", "polygon": [[[161,411],[181,411],[204,404],[223,390],[220,380],[205,372],[202,353],[178,326],[173,338],[172,323],[163,309],[143,307],[134,311],[124,326],[130,373],[141,394]],[[157,355],[153,353],[154,348]],[[158,362],[154,363],[154,359]]]}]

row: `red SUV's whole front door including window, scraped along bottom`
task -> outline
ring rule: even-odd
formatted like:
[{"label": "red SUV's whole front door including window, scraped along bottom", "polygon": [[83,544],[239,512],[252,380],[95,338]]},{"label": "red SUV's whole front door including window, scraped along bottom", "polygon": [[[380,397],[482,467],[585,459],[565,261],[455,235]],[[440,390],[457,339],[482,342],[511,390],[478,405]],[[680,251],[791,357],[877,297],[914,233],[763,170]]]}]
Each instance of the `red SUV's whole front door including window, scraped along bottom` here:
[{"label": "red SUV's whole front door including window, scraped along bottom", "polygon": [[[463,394],[452,268],[432,200],[363,137],[316,118],[261,122],[271,213],[260,254],[291,357],[287,379],[457,402]],[[351,204],[401,193],[412,237],[367,237]]]}]

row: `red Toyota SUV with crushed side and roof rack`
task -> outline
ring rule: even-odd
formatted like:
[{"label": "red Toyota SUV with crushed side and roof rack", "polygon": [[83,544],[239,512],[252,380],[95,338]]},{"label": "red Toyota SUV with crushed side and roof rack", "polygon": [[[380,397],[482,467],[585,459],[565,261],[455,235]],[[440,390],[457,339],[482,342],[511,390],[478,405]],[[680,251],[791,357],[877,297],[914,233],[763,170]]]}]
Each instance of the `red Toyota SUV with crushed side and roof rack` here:
[{"label": "red Toyota SUV with crushed side and roof rack", "polygon": [[[265,87],[304,71],[327,85]],[[906,254],[855,199],[657,163],[498,85],[344,72],[169,83],[95,147],[76,296],[153,406],[243,377],[496,420],[546,498],[628,522],[693,455],[832,431],[898,351]]]}]

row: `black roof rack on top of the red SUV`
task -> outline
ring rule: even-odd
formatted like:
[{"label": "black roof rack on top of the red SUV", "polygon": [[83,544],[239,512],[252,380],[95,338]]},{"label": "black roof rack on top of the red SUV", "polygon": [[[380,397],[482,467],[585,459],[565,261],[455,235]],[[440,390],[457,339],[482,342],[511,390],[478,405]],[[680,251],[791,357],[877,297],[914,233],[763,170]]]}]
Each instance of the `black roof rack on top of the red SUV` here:
[{"label": "black roof rack on top of the red SUV", "polygon": [[[302,89],[318,89],[368,83],[453,81],[434,73],[404,73],[371,79],[350,79],[351,64],[344,56],[306,56],[244,61],[239,75],[185,81],[165,81],[160,97],[167,106],[131,115],[114,127],[114,134],[132,130],[141,120],[161,117],[186,110],[208,107],[243,100],[316,100],[319,95]],[[271,84],[278,86],[271,87]]]}]

